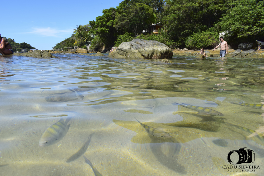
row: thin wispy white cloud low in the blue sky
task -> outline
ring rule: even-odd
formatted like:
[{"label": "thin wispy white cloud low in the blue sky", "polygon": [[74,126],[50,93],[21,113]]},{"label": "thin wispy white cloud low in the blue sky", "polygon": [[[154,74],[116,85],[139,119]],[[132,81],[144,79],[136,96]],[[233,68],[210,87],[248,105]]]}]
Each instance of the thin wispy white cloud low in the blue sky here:
[{"label": "thin wispy white cloud low in the blue sky", "polygon": [[40,36],[48,36],[48,37],[63,37],[65,34],[72,34],[73,30],[57,30],[54,28],[46,27],[46,28],[37,28],[32,27],[31,32],[25,32],[27,34],[37,34]]}]

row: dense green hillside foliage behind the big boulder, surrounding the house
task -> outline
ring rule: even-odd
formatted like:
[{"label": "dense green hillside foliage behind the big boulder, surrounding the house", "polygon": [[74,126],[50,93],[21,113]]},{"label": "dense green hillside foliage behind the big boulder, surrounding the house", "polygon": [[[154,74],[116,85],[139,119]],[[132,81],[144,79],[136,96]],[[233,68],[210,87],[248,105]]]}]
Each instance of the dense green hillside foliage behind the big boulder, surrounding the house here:
[{"label": "dense green hillside foliage behind the big boulder, surrounding the house", "polygon": [[[264,3],[261,0],[124,0],[116,8],[104,9],[103,15],[74,31],[74,45],[87,42],[94,34],[93,50],[110,49],[134,38],[157,40],[189,49],[213,48],[224,40],[237,46],[242,42],[264,40]],[[158,35],[150,26],[161,22]],[[78,28],[78,26],[77,26]],[[132,35],[133,34],[133,35]]]}]

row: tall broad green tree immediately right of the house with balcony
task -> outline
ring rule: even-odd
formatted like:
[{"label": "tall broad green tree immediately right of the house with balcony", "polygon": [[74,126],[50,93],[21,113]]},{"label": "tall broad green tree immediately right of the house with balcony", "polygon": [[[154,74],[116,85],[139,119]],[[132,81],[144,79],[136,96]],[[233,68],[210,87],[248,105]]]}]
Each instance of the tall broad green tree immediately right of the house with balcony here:
[{"label": "tall broad green tree immediately right of the house with balcony", "polygon": [[171,40],[185,47],[186,38],[206,31],[227,11],[225,0],[166,0],[160,19]]}]

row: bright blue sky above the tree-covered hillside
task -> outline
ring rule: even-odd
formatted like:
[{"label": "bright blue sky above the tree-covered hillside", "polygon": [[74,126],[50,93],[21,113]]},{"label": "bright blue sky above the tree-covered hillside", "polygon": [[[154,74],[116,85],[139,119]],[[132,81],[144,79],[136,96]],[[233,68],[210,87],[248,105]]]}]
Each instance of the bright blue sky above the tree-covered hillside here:
[{"label": "bright blue sky above the tree-covered hillside", "polygon": [[76,25],[103,15],[103,9],[119,6],[122,0],[46,0],[1,2],[0,34],[26,42],[39,50],[52,49],[73,34]]}]

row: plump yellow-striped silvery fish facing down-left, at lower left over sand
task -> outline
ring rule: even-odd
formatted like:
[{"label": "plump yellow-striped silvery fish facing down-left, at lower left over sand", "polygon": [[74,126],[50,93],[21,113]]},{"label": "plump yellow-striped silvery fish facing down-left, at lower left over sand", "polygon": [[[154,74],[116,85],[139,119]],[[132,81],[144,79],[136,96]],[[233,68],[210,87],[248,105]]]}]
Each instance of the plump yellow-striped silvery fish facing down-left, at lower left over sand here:
[{"label": "plump yellow-striped silvery fish facing down-left, at lower left over sand", "polygon": [[70,124],[67,123],[71,118],[61,118],[58,122],[48,127],[39,140],[39,146],[49,146],[59,142],[68,132]]}]

